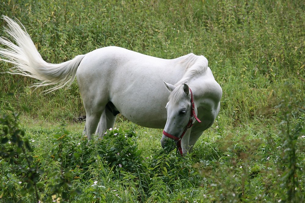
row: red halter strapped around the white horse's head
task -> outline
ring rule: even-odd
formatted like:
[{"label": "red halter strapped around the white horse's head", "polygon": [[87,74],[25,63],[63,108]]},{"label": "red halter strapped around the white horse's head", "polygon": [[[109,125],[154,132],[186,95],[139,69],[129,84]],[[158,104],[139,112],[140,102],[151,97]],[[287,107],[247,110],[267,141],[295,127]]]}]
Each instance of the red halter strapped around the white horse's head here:
[{"label": "red halter strapped around the white horse's head", "polygon": [[190,120],[188,121],[188,124],[185,127],[183,133],[181,134],[180,137],[176,137],[174,135],[171,135],[171,134],[165,132],[165,130],[163,130],[163,135],[165,135],[166,137],[169,137],[169,138],[171,138],[173,140],[178,141],[176,143],[176,146],[177,146],[178,151],[180,152],[181,155],[182,155],[181,139],[184,136],[184,134],[186,133],[186,131],[193,126],[193,119],[195,118],[198,121],[198,123],[201,123],[201,121],[199,120],[199,118],[197,118],[196,113],[195,113],[195,104],[194,104],[194,98],[193,98],[193,93],[192,93],[191,88],[189,88],[189,90],[190,90],[190,93],[191,93],[191,108],[192,108],[192,112],[191,112]]}]

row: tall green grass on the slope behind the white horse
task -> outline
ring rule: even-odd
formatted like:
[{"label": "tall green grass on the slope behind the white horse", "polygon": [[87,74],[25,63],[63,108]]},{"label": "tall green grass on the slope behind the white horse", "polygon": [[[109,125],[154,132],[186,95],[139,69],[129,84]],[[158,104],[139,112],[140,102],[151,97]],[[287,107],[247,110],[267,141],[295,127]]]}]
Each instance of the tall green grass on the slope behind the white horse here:
[{"label": "tall green grass on the slope behind the white horse", "polygon": [[[285,81],[304,89],[304,6],[302,1],[8,1],[0,13],[20,20],[52,63],[109,45],[161,58],[205,55],[224,90],[221,115],[239,123],[260,116],[262,107],[274,107],[271,96],[285,91]],[[2,71],[9,67],[1,62]],[[0,80],[2,92],[16,93],[14,100],[1,98],[17,108],[28,103],[38,118],[84,113],[76,83],[42,95],[42,88],[27,88],[33,79],[1,74]],[[304,91],[296,96],[304,98]]]}]

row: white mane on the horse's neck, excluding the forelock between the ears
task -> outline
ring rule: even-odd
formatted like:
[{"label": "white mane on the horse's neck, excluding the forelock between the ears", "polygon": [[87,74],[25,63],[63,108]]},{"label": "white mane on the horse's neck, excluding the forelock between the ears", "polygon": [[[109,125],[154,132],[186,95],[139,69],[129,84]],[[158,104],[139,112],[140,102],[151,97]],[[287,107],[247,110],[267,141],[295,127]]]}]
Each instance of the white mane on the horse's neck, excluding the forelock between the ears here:
[{"label": "white mane on the horse's neck, excluding the forelock between the ears", "polygon": [[183,58],[180,63],[185,66],[185,73],[175,86],[188,83],[192,78],[204,74],[208,68],[208,60],[202,55],[190,53]]}]

